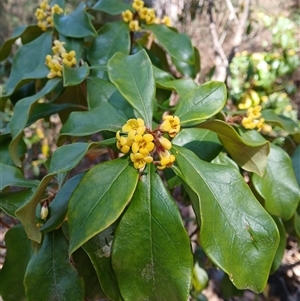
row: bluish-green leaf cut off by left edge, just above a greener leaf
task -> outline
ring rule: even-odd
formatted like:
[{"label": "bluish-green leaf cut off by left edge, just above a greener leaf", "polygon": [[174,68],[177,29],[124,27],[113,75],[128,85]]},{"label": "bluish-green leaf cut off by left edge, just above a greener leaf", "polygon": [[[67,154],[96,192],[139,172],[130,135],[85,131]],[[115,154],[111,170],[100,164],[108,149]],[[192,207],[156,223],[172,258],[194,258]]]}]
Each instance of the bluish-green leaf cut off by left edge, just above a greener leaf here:
[{"label": "bluish-green leaf cut off by left edge, just above a greener leaf", "polygon": [[36,187],[39,184],[39,181],[27,180],[16,167],[0,163],[0,170],[0,190],[8,186]]}]

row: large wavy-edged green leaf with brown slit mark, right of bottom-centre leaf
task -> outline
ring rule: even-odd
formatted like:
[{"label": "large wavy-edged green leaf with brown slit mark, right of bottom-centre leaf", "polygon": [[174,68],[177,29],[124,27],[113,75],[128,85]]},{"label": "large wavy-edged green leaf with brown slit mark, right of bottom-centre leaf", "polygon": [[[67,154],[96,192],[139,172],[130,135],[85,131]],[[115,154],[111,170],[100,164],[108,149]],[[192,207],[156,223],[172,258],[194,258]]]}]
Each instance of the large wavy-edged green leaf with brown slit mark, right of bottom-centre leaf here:
[{"label": "large wavy-edged green leaf with brown slit mark, right of bottom-centre leaf", "polygon": [[173,149],[178,164],[173,169],[200,204],[203,250],[238,289],[261,292],[279,242],[273,219],[235,168],[202,161],[183,147]]}]

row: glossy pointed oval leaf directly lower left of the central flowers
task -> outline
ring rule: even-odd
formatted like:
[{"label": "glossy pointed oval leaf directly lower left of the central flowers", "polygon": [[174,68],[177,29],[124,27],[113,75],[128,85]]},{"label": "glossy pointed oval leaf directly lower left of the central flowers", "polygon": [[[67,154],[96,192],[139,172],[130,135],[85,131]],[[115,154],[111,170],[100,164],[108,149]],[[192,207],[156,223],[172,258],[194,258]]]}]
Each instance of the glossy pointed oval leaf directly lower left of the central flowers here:
[{"label": "glossy pointed oval leaf directly lower left of the central flowers", "polygon": [[138,172],[126,158],[104,162],[87,172],[69,201],[70,254],[120,216],[137,180]]}]

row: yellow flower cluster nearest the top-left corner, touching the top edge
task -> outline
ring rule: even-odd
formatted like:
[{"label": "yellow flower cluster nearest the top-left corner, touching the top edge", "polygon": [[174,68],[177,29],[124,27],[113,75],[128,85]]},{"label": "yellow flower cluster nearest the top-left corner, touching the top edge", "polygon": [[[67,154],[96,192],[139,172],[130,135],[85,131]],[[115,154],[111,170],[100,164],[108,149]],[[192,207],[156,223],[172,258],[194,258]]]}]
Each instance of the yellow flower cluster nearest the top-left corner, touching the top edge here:
[{"label": "yellow flower cluster nearest the top-left corner, touching the top edge", "polygon": [[63,12],[64,10],[58,4],[51,7],[48,1],[44,0],[35,11],[38,27],[43,31],[46,31],[48,26],[53,27],[53,14],[62,14]]}]

